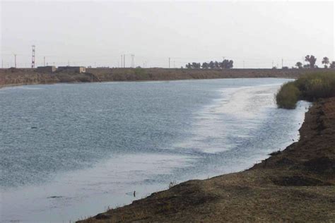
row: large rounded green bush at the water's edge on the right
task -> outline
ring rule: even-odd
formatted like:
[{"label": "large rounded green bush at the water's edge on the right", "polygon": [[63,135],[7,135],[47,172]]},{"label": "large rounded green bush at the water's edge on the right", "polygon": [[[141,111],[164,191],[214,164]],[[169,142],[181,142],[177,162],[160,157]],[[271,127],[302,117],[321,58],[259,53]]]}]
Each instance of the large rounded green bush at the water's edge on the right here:
[{"label": "large rounded green bush at the water's edge on the right", "polygon": [[294,109],[298,100],[315,101],[335,97],[335,72],[310,73],[281,86],[276,95],[278,107]]}]

